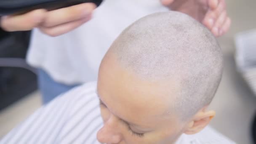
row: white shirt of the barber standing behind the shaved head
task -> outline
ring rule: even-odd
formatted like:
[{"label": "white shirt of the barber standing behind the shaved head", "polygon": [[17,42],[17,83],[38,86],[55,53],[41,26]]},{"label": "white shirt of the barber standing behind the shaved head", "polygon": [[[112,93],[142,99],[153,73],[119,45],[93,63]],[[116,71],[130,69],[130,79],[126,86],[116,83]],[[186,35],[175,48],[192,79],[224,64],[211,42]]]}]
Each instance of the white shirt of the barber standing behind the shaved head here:
[{"label": "white shirt of the barber standing behind the shaved head", "polygon": [[34,29],[27,61],[60,83],[94,81],[101,59],[123,29],[159,11],[168,11],[160,0],[104,0],[91,21],[67,34],[50,37]]}]

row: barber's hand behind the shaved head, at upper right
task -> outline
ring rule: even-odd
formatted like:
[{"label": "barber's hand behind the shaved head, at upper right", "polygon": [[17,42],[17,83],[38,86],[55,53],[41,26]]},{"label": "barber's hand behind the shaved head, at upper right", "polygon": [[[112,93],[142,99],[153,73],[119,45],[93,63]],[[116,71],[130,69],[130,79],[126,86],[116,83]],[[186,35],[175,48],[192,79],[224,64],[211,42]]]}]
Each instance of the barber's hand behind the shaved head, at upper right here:
[{"label": "barber's hand behind the shaved head, at upper right", "polygon": [[173,11],[187,13],[204,24],[219,37],[230,27],[225,0],[161,0],[162,4]]}]

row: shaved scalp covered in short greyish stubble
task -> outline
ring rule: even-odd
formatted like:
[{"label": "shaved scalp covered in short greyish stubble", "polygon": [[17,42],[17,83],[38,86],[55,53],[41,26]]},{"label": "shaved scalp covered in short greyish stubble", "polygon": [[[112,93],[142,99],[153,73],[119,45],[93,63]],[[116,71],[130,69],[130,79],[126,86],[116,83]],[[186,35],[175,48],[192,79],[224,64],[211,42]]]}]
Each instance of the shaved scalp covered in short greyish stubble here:
[{"label": "shaved scalp covered in short greyish stubble", "polygon": [[[172,98],[182,119],[207,106],[218,88],[222,53],[215,37],[202,24],[179,12],[155,13],[126,28],[109,48],[108,56],[138,79],[173,83]],[[171,95],[171,93],[170,93]]]}]

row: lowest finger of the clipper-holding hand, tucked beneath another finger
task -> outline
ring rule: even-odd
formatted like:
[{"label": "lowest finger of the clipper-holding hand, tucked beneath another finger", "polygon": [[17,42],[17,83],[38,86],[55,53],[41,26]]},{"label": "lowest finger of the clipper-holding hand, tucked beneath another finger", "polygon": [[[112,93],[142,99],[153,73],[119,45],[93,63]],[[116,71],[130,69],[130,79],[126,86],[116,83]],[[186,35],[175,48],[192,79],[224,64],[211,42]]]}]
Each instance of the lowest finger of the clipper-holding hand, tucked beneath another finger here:
[{"label": "lowest finger of the clipper-holding hand, tucked beneath another finger", "polygon": [[72,31],[73,29],[81,26],[82,24],[89,21],[90,19],[91,19],[91,15],[89,15],[83,19],[68,22],[68,23],[61,24],[61,25],[54,26],[54,27],[41,26],[41,27],[39,27],[39,29],[41,30],[41,32],[45,33],[46,35],[49,35],[51,37],[56,37],[56,36],[65,34],[69,31]]}]

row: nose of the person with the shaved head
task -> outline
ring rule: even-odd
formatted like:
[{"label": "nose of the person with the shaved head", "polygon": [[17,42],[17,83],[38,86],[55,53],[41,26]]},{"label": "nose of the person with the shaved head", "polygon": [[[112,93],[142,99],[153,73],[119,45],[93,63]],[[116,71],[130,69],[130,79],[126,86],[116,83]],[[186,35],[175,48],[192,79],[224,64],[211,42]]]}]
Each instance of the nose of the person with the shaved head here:
[{"label": "nose of the person with the shaved head", "polygon": [[101,143],[106,144],[118,144],[122,141],[122,135],[118,131],[118,121],[114,120],[114,117],[110,117],[105,123],[104,126],[98,131],[97,139]]}]

